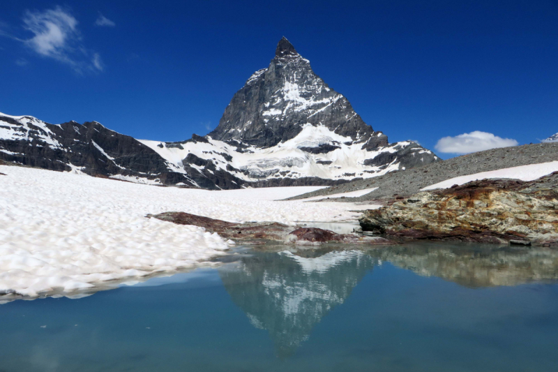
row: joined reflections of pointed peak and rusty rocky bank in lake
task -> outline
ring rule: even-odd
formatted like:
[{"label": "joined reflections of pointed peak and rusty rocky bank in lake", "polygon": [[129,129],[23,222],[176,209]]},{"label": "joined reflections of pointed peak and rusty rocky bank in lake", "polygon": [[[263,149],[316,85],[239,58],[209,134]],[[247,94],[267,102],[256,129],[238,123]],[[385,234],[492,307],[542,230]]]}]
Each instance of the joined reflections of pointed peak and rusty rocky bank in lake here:
[{"label": "joined reflections of pointed peak and rusty rocky bank in lake", "polygon": [[448,243],[258,253],[221,267],[219,274],[234,304],[254,327],[269,332],[279,357],[289,357],[383,261],[469,288],[558,279],[558,251],[550,248]]}]

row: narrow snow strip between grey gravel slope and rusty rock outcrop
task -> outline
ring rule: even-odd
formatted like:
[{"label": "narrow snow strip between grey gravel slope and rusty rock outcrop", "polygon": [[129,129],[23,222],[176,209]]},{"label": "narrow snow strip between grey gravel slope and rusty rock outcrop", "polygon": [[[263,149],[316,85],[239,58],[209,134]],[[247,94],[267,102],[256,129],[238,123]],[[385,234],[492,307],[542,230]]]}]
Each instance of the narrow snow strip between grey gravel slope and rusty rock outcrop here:
[{"label": "narrow snow strip between grey gravel slope and rusty rock outcrop", "polygon": [[421,191],[434,190],[435,188],[450,188],[453,185],[467,184],[467,182],[470,181],[476,181],[478,179],[486,178],[511,178],[521,179],[522,181],[533,181],[534,179],[541,178],[557,171],[558,161],[521,165],[520,167],[503,168],[499,170],[491,170],[489,172],[481,172],[476,174],[469,174],[467,176],[446,179],[446,181],[438,182],[437,184],[421,188]]}]

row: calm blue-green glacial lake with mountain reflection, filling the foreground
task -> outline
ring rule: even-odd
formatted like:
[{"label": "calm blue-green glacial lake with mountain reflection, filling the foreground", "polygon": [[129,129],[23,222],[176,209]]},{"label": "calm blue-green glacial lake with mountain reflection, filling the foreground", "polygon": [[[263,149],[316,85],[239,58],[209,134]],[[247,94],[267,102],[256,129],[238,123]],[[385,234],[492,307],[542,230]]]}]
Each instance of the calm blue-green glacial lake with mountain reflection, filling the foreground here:
[{"label": "calm blue-green glacial lake with mountain reflection, filling the foreground", "polygon": [[220,261],[1,304],[0,371],[558,370],[555,250],[240,248]]}]

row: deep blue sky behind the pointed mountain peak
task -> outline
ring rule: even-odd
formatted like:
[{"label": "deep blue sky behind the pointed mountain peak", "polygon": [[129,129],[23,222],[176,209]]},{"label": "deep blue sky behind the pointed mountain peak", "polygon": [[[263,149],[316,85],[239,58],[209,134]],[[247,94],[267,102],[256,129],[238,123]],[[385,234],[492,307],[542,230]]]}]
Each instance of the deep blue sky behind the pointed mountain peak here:
[{"label": "deep blue sky behind the pointed mountain peak", "polygon": [[[52,17],[62,34],[36,37]],[[538,142],[558,132],[557,20],[551,0],[8,0],[0,112],[204,135],[286,36],[390,142]]]}]

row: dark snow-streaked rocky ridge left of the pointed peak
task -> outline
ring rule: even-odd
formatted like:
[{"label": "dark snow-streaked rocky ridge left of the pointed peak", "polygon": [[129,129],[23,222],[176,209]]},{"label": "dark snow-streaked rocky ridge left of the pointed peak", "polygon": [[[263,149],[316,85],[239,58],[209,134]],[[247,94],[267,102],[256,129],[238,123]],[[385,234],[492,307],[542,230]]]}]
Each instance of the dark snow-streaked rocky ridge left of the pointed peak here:
[{"label": "dark snow-streaked rocky ridge left of the pointed peak", "polygon": [[[138,177],[161,184],[188,182],[183,174],[169,172],[163,158],[137,142],[96,121],[48,124],[33,117],[0,115],[0,126],[10,135],[0,138],[5,161],[47,170],[80,172],[95,177]],[[157,180],[157,181],[156,181]]]}]

